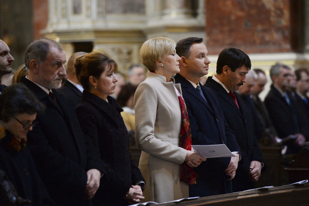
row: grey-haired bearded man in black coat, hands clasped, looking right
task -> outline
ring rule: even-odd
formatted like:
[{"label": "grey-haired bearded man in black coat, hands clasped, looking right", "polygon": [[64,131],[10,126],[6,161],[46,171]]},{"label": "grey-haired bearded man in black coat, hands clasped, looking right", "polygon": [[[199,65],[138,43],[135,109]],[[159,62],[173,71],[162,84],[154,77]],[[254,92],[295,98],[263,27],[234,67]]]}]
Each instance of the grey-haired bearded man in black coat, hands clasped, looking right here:
[{"label": "grey-haired bearded man in black coat, hands clasped, looking right", "polygon": [[99,186],[102,164],[85,138],[74,109],[55,88],[61,86],[65,53],[49,39],[32,42],[25,53],[29,73],[21,82],[46,106],[28,133],[28,146],[38,173],[57,205],[90,205]]}]

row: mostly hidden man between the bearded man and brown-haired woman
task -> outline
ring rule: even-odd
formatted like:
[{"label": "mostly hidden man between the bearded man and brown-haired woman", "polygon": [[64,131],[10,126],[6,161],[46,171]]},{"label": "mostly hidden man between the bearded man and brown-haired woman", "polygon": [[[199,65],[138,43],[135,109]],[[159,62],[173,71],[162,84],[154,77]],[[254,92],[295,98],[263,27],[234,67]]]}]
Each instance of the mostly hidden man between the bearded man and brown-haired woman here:
[{"label": "mostly hidden man between the bearded man and brown-haired woman", "polygon": [[68,60],[67,72],[68,79],[64,82],[63,86],[59,89],[59,93],[65,96],[71,106],[75,109],[79,101],[81,100],[81,94],[83,91],[82,85],[78,81],[75,74],[75,59],[82,55],[87,54],[86,52],[75,52]]}]

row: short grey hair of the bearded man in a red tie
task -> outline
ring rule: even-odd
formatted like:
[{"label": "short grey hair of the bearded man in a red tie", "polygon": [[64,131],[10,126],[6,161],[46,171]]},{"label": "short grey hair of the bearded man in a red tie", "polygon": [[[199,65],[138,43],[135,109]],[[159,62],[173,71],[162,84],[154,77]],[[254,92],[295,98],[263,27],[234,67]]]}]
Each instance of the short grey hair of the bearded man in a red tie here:
[{"label": "short grey hair of the bearded man in a red tie", "polygon": [[51,47],[56,47],[59,51],[63,51],[60,44],[51,39],[38,39],[33,41],[25,52],[25,65],[29,67],[29,63],[32,59],[42,63],[47,58],[47,55]]}]

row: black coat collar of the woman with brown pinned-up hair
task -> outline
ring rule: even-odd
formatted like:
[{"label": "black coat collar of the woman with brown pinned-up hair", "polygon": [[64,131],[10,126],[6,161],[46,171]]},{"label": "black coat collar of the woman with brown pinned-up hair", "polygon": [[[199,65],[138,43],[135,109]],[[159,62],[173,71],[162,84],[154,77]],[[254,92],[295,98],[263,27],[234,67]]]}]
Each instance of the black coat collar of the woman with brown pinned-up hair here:
[{"label": "black coat collar of the woman with brown pinned-up hair", "polygon": [[121,107],[118,105],[117,101],[113,97],[108,96],[109,102],[107,102],[104,99],[101,99],[100,97],[84,90],[82,92],[82,99],[88,101],[91,105],[95,106],[102,113],[107,114],[110,117],[111,121],[114,122],[117,126],[121,126],[120,121],[117,120],[119,120],[119,116],[121,116],[120,113],[123,111],[123,109],[121,109]]}]

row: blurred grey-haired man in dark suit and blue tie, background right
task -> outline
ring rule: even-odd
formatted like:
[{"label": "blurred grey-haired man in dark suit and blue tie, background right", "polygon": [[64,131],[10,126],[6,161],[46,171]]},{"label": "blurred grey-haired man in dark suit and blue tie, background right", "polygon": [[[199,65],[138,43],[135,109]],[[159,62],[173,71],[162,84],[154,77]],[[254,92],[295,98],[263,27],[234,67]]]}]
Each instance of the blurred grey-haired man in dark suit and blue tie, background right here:
[{"label": "blurred grey-haired man in dark suit and blue tie, background right", "polygon": [[286,143],[287,154],[297,153],[305,142],[305,137],[300,133],[301,122],[298,119],[295,98],[287,90],[289,81],[293,78],[290,70],[287,65],[280,63],[271,67],[270,78],[273,83],[264,100],[279,138],[283,139],[289,135],[295,136],[295,139]]}]

